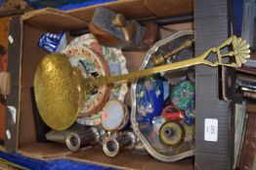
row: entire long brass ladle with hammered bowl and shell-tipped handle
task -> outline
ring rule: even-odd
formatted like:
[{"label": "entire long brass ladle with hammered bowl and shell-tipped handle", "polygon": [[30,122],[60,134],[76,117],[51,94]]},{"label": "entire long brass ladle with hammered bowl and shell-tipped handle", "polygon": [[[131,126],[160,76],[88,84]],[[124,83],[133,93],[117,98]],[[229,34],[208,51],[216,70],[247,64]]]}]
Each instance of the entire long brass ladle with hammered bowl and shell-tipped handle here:
[{"label": "entire long brass ladle with hammered bowl and shell-tipped handle", "polygon": [[[227,53],[221,50],[228,48]],[[216,61],[207,60],[210,53],[217,55]],[[77,68],[72,68],[67,57],[61,53],[51,53],[39,63],[34,77],[35,99],[39,113],[47,125],[55,130],[64,130],[77,118],[79,103],[85,91],[116,82],[133,80],[159,72],[180,69],[198,64],[212,67],[223,65],[240,67],[250,57],[249,45],[245,40],[232,36],[217,48],[210,48],[194,58],[162,66],[139,70],[133,73],[83,78]],[[223,62],[223,57],[235,56],[234,61]]]}]

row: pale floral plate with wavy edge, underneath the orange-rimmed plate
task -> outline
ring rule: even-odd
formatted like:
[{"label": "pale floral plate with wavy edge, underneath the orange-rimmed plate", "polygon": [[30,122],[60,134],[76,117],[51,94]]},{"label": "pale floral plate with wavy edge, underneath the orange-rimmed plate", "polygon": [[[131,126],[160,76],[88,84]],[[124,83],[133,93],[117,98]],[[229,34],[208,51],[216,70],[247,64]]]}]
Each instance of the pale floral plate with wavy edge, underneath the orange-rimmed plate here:
[{"label": "pale floral plate with wavy edge, underneath the orange-rimmed plate", "polygon": [[[126,59],[122,51],[115,48],[107,48],[107,47],[101,46],[92,34],[84,34],[74,39],[67,46],[67,48],[70,48],[70,47],[88,48],[89,50],[94,51],[97,55],[102,56],[102,58],[105,58],[107,60],[109,74],[112,76],[128,73],[126,69]],[[109,100],[118,100],[123,102],[127,91],[128,91],[127,83],[125,82],[116,83],[111,86]],[[98,113],[96,114],[99,115]],[[79,118],[77,119],[77,122],[85,125],[96,125],[100,123],[100,121],[98,120],[95,121],[95,119],[92,119],[91,117],[86,117],[82,119]]]}]

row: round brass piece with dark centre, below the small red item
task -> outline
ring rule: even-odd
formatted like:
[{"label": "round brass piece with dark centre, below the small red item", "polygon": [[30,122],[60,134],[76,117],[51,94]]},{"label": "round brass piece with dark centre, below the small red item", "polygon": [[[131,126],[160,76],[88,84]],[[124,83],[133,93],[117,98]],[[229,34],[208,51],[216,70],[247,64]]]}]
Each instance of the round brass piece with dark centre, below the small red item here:
[{"label": "round brass piece with dark centre, below the small red item", "polygon": [[177,121],[166,121],[159,130],[160,140],[171,147],[179,146],[185,137],[184,127]]}]

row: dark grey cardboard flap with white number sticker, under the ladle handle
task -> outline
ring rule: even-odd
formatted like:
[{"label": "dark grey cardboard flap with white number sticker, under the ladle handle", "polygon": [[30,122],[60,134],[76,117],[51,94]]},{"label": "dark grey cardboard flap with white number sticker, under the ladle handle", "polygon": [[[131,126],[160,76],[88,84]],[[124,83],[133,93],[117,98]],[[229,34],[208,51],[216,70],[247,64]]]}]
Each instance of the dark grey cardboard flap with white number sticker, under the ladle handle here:
[{"label": "dark grey cardboard flap with white number sticker, under the ladle handle", "polygon": [[[229,0],[194,1],[195,54],[209,47],[220,46],[231,36],[231,5]],[[226,82],[228,77],[233,80],[230,86]],[[230,94],[235,92],[233,77],[235,73],[232,68],[212,68],[205,65],[195,67],[195,169],[232,169],[235,141],[234,98],[225,100],[223,94],[224,90]],[[218,122],[217,126],[213,125],[217,127],[216,141],[205,140],[205,129],[209,125],[207,120],[210,120],[210,124]]]}]

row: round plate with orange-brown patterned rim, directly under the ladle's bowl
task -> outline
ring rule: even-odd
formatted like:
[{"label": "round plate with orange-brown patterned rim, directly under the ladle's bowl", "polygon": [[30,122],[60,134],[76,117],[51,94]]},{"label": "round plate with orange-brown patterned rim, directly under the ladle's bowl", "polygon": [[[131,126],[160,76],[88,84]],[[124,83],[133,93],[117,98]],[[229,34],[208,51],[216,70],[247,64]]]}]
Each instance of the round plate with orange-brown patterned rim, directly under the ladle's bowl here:
[{"label": "round plate with orange-brown patterned rim, directly under the ladle's bowl", "polygon": [[[84,47],[68,47],[63,52],[71,66],[81,70],[84,78],[109,75],[107,62],[93,51]],[[86,117],[98,112],[107,101],[108,95],[108,85],[96,87],[90,93],[82,93],[78,117]]]}]

